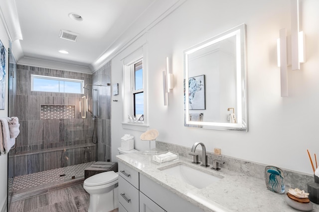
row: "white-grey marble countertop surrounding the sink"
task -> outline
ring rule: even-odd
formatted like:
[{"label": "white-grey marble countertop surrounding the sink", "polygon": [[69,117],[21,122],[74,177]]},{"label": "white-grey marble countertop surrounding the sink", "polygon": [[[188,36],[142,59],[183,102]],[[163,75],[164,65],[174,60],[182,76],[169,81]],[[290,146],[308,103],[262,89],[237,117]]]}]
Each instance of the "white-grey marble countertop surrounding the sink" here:
[{"label": "white-grey marble countertop surrounding the sink", "polygon": [[[142,152],[116,156],[118,160],[142,175],[150,178],[169,191],[191,202],[205,212],[296,212],[285,202],[286,194],[276,194],[267,189],[265,181],[259,178],[246,176],[239,172],[227,169],[211,170],[211,166],[204,168],[192,164],[191,160],[181,157],[172,162],[157,164],[152,156]],[[167,175],[159,168],[184,163],[187,166],[203,172],[222,176],[218,182],[212,183],[203,189],[188,185],[179,179]],[[319,205],[313,204],[313,212],[319,211]]]}]

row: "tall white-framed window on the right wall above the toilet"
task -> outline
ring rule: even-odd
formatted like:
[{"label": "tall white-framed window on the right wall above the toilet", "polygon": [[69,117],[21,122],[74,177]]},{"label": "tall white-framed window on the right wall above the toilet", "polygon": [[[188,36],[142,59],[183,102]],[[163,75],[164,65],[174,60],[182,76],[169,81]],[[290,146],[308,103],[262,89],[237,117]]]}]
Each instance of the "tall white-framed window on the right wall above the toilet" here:
[{"label": "tall white-framed window on the right wall above the toilet", "polygon": [[[147,125],[147,66],[143,49],[124,59],[124,124]],[[130,120],[129,115],[135,117]]]}]

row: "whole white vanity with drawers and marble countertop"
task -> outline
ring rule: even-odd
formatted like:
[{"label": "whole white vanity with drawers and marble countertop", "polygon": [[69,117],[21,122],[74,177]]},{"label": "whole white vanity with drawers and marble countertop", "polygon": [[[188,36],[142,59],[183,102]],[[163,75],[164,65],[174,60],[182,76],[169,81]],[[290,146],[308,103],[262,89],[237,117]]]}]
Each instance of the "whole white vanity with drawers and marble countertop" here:
[{"label": "whole white vanity with drawers and marble countertop", "polygon": [[[118,155],[119,212],[296,212],[285,202],[285,194],[269,191],[265,181],[244,172],[222,168],[211,170],[192,164],[179,156],[172,162],[157,164],[142,152]],[[185,166],[190,173],[210,175],[215,181],[207,185],[198,179],[185,182],[174,176],[174,167]],[[194,175],[194,176],[193,176]],[[190,179],[194,180],[194,179]],[[314,204],[314,212],[318,212]]]}]

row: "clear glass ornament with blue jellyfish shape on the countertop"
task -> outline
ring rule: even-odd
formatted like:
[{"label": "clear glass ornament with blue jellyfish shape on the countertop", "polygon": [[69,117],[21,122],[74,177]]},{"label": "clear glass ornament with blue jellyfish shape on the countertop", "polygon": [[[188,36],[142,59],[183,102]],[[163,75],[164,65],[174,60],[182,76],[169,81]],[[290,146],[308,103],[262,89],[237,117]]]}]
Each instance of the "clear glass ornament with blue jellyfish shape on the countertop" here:
[{"label": "clear glass ornament with blue jellyfish shape on the countertop", "polygon": [[275,193],[285,193],[285,177],[284,172],[275,166],[265,167],[265,183],[267,188]]}]

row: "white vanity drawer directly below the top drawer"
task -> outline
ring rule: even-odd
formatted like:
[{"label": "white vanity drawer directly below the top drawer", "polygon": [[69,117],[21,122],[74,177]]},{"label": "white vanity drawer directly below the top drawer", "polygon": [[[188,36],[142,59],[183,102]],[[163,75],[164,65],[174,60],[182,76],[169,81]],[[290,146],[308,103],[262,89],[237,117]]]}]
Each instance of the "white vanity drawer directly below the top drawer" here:
[{"label": "white vanity drawer directly below the top drawer", "polygon": [[139,212],[139,190],[119,177],[119,202],[128,212]]}]

